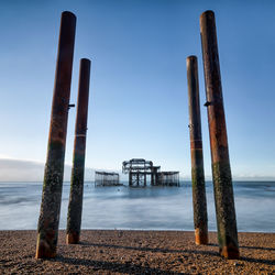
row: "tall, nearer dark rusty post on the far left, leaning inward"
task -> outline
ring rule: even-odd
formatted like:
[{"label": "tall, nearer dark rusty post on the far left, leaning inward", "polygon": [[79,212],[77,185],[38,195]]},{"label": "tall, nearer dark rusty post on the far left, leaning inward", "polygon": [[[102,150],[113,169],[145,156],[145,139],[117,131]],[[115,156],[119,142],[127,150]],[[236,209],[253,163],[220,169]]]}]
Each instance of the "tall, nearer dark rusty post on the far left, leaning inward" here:
[{"label": "tall, nearer dark rusty post on the far left, leaning inward", "polygon": [[62,202],[65,144],[74,58],[76,16],[62,13],[47,160],[37,229],[36,258],[55,257]]}]

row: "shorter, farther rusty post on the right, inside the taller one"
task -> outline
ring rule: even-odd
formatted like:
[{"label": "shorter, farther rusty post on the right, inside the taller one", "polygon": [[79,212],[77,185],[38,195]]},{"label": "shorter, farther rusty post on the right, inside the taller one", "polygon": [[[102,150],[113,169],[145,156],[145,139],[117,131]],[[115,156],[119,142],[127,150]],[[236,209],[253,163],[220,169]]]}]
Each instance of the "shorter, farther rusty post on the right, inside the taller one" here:
[{"label": "shorter, farther rusty post on the right, inside the taller one", "polygon": [[189,99],[189,131],[191,151],[193,209],[196,244],[208,243],[207,200],[204,170],[204,154],[201,141],[201,121],[199,106],[198,63],[196,56],[186,59],[188,99]]}]

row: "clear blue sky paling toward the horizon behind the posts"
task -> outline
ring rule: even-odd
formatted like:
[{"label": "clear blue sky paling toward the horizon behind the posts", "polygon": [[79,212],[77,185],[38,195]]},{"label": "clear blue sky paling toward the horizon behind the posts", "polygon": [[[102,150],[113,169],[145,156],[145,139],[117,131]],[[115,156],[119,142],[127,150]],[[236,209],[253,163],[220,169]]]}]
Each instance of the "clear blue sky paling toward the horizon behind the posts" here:
[{"label": "clear blue sky paling toward the horizon behind the posts", "polygon": [[[121,170],[123,161],[142,157],[190,177],[186,57],[196,55],[205,172],[211,177],[199,16],[213,10],[233,178],[275,180],[272,0],[0,1],[0,180],[43,179],[65,10],[77,16],[72,103],[79,59],[91,59],[87,168]],[[70,109],[67,166],[75,117]]]}]

